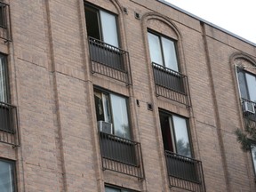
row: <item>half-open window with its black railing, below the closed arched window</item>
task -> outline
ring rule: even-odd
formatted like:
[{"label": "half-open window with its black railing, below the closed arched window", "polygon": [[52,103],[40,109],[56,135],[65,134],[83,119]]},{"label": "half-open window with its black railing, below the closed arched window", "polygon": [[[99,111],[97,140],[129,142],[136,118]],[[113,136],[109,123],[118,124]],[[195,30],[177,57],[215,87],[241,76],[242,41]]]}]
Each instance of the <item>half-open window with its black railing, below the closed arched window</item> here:
[{"label": "half-open window with its black railing, below the closed arched window", "polygon": [[159,115],[170,185],[204,191],[202,163],[192,158],[188,119],[164,110]]}]

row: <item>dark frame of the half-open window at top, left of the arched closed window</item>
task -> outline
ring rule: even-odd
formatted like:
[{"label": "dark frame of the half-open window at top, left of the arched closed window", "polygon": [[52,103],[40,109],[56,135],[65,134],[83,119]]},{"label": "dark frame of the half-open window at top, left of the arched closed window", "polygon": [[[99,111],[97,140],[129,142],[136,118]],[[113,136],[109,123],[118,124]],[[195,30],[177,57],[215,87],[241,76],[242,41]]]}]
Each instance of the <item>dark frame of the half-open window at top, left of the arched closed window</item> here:
[{"label": "dark frame of the half-open window at top, left of the arched closed window", "polygon": [[[104,8],[101,8],[101,7],[97,6],[97,5],[84,2],[84,16],[85,16],[84,18],[85,18],[85,28],[86,28],[86,30],[87,30],[86,10],[88,10],[88,9],[97,12],[98,28],[99,28],[99,35],[100,35],[100,39],[98,39],[98,40],[100,40],[104,44],[108,44],[108,43],[106,43],[105,40],[104,40],[103,29],[102,29],[102,21],[100,19],[100,11],[101,12],[107,12],[108,14],[111,14],[112,16],[115,17],[117,46],[114,45],[114,44],[110,44],[110,45],[114,46],[116,48],[120,48],[121,47],[121,41],[120,41],[120,31],[119,31],[120,26],[119,26],[119,22],[118,22],[118,15],[115,12],[110,12],[110,11],[104,9]],[[88,30],[87,30],[87,36],[89,36],[88,35]],[[90,37],[94,38],[93,36],[90,36]]]}]

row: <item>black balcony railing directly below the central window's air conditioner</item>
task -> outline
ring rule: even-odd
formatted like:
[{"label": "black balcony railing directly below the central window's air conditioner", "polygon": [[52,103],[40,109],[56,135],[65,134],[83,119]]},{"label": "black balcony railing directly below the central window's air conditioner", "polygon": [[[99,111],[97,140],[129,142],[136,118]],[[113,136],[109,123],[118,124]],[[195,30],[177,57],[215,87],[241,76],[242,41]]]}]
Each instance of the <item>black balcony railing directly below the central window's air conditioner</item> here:
[{"label": "black balcony railing directly below the central window's air conditioner", "polygon": [[99,135],[103,170],[144,178],[140,143],[105,132]]}]

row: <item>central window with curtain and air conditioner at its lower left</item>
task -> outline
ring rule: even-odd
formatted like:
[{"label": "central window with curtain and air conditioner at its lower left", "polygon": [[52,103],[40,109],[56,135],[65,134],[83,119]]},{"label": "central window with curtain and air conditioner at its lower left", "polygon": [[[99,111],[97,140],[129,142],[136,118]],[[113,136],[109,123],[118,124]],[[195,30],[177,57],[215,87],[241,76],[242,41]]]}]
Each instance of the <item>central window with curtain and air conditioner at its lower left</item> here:
[{"label": "central window with curtain and air conditioner at its lower left", "polygon": [[113,124],[113,134],[131,140],[126,98],[94,90],[97,121]]}]

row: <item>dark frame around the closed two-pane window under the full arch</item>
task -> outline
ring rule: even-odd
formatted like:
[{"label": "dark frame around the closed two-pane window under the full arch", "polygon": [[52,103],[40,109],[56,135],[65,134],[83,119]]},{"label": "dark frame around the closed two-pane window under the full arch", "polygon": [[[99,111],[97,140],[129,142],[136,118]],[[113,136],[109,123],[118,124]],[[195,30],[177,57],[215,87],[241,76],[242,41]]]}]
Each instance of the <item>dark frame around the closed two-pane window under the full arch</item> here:
[{"label": "dark frame around the closed two-pane window under the full arch", "polygon": [[[161,66],[163,66],[164,68],[168,68],[168,67],[166,66],[166,63],[165,63],[165,60],[164,60],[164,45],[163,45],[162,38],[165,38],[165,39],[168,39],[168,40],[172,41],[172,43],[173,43],[173,45],[174,45],[174,51],[175,51],[174,53],[175,53],[175,57],[176,57],[176,61],[177,61],[177,70],[174,69],[174,68],[169,68],[169,69],[180,73],[180,57],[179,57],[179,52],[178,52],[178,51],[179,51],[179,50],[178,50],[178,40],[177,40],[177,39],[174,39],[174,38],[172,38],[172,37],[170,37],[170,36],[166,36],[166,35],[164,35],[164,34],[161,34],[161,33],[159,33],[159,32],[156,32],[155,30],[153,30],[153,29],[151,29],[151,28],[148,28],[147,32],[148,32],[149,34],[152,34],[152,35],[158,37],[158,41],[159,41],[159,43],[160,43],[160,50],[161,50],[160,53],[161,53],[163,65],[161,65],[161,64],[159,64],[159,63],[156,63],[156,64],[161,65]],[[147,33],[147,38],[148,38],[148,33]],[[148,39],[148,50],[149,50],[150,60],[151,60],[151,62],[154,62],[154,61],[152,61],[152,59],[151,59],[149,39]]]}]

